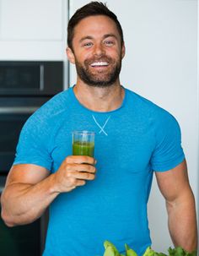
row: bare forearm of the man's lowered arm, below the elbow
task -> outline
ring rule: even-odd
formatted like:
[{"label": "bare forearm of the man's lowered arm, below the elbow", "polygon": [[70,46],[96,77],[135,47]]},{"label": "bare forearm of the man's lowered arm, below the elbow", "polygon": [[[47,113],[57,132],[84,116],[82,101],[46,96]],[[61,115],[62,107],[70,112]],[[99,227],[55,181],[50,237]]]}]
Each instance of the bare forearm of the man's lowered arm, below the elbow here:
[{"label": "bare forearm of the man's lowered arm, below the elbow", "polygon": [[175,247],[180,246],[188,252],[197,248],[196,207],[191,191],[186,197],[167,202],[169,232]]}]

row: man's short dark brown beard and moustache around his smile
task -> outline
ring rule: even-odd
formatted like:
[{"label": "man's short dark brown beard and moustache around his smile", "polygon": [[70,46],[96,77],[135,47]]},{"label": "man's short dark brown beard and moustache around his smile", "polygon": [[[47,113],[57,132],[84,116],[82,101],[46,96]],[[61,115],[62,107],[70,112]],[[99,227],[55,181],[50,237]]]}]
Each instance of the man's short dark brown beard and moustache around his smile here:
[{"label": "man's short dark brown beard and moustache around his smile", "polygon": [[[90,64],[94,62],[107,62],[109,65],[112,65],[113,68],[111,68],[109,72],[92,72],[92,70],[89,70],[89,68]],[[121,72],[121,57],[117,62],[114,62],[110,57],[95,57],[89,60],[85,60],[83,64],[78,63],[78,60],[76,59],[75,65],[78,77],[83,80],[85,84],[94,87],[108,87],[114,84],[116,79],[119,78],[119,74]]]}]

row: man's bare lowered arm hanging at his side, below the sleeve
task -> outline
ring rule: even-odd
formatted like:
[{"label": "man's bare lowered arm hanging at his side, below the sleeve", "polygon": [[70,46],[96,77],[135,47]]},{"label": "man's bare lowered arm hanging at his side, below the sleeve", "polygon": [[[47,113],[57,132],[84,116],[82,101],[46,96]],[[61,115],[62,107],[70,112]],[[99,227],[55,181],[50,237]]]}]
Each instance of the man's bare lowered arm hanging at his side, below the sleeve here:
[{"label": "man's bare lowered arm hanging at his side, below the sleeve", "polygon": [[168,172],[156,172],[156,178],[166,200],[169,233],[175,247],[194,251],[197,247],[196,206],[186,161]]}]

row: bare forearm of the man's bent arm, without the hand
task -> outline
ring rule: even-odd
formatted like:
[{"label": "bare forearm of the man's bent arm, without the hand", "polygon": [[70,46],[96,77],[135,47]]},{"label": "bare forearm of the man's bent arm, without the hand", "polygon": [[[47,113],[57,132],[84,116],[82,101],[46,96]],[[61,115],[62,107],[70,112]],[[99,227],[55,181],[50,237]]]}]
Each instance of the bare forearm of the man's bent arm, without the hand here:
[{"label": "bare forearm of the man's bent arm, without the hand", "polygon": [[36,184],[11,183],[3,191],[2,216],[8,226],[35,221],[57,194],[52,189],[53,175]]}]

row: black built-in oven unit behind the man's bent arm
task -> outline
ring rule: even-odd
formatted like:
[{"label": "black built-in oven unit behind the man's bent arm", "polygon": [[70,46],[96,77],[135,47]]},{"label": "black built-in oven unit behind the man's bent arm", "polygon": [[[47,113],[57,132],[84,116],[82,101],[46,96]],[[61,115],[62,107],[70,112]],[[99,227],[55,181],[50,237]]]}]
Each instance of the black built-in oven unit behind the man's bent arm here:
[{"label": "black built-in oven unit behind the man's bent arm", "polygon": [[[21,128],[30,115],[62,90],[62,62],[0,62],[0,196]],[[0,217],[1,256],[40,256],[47,222],[48,210],[24,226],[8,227]]]}]

